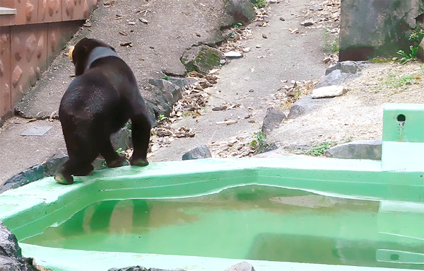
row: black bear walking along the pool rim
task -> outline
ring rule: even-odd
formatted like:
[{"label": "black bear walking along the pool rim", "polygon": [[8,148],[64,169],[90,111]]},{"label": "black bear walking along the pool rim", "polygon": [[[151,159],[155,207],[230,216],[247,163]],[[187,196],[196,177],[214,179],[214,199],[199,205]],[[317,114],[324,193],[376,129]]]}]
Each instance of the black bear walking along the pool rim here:
[{"label": "black bear walking along the pool rim", "polygon": [[151,115],[128,65],[113,47],[83,38],[69,57],[76,78],[61,98],[59,120],[69,160],[54,175],[57,183],[73,183],[72,175],[89,175],[91,163],[101,154],[110,168],[122,166],[110,135],[131,119],[134,153],[131,165],[146,166],[151,134]]}]

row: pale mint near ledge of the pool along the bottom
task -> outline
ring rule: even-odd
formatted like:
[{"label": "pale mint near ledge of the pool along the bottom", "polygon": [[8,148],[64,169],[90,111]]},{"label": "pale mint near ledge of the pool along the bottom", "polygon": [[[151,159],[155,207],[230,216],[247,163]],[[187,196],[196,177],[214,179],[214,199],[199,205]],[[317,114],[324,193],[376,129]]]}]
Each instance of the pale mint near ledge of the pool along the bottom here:
[{"label": "pale mint near ledge of the pool along the bottom", "polygon": [[223,271],[228,267],[243,261],[247,261],[252,264],[255,270],[258,271],[406,271],[403,269],[388,269],[379,267],[317,265],[309,263],[269,262],[264,260],[236,260],[180,255],[70,250],[34,246],[25,243],[20,244],[20,246],[23,249],[23,255],[25,257],[34,257],[37,265],[42,265],[43,267],[50,268],[54,271],[106,271],[112,267],[122,268],[135,265],[172,270]]}]

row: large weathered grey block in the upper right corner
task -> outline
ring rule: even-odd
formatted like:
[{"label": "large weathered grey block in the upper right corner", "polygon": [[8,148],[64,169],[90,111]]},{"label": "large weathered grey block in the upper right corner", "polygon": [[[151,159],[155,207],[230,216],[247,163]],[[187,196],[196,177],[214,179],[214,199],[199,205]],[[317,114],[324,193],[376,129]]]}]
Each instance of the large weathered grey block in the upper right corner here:
[{"label": "large weathered grey block in the upper right corner", "polygon": [[339,60],[397,57],[424,13],[422,0],[341,1]]}]

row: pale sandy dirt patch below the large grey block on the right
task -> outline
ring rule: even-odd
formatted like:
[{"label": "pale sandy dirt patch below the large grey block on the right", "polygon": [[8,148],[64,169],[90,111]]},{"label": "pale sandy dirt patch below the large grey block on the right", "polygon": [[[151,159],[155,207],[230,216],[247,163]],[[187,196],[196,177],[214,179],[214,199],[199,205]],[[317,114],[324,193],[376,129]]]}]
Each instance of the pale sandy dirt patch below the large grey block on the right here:
[{"label": "pale sandy dirt patch below the large grey block on the right", "polygon": [[367,64],[358,79],[343,85],[348,93],[308,115],[286,121],[272,132],[279,145],[343,142],[382,137],[384,103],[424,103],[424,66]]}]

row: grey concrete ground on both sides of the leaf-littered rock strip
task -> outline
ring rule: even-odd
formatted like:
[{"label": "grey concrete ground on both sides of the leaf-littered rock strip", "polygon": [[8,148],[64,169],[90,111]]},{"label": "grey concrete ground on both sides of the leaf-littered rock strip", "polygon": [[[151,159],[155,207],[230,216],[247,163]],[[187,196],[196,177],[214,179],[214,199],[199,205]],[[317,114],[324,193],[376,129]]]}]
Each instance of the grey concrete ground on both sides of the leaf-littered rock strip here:
[{"label": "grey concrete ground on both sides of the leaf-littered rock strip", "polygon": [[[156,151],[149,161],[181,160],[182,154],[199,144],[258,132],[270,95],[283,85],[281,80],[319,79],[323,76],[326,67],[322,63],[322,30],[300,25],[305,19],[302,10],[308,8],[309,3],[309,0],[296,0],[270,4],[269,25],[250,25],[253,35],[244,46],[252,47],[252,51],[223,66],[218,83],[207,88],[211,98],[206,114],[174,124],[176,127],[194,127],[196,136],[175,140],[170,146]],[[93,13],[91,26],[82,28],[70,43],[83,37],[109,43],[133,69],[143,88],[150,78],[163,78],[165,74],[183,75],[185,69],[179,58],[187,47],[219,40],[220,27],[233,23],[224,16],[221,4],[220,0],[117,0],[112,6],[104,6],[101,1]],[[281,17],[285,21],[281,21]],[[148,23],[142,23],[139,18],[146,18]],[[300,33],[291,34],[289,28],[299,28]],[[267,38],[263,38],[263,34]],[[132,42],[133,46],[119,46],[122,42]],[[257,45],[261,45],[260,48]],[[42,163],[65,149],[59,121],[40,119],[57,115],[61,96],[72,80],[72,74],[69,59],[64,54],[59,55],[18,104],[18,110],[25,118],[12,117],[1,127],[0,185],[25,168]],[[141,91],[148,98],[149,93]],[[242,106],[233,110],[211,110],[224,102]],[[252,113],[253,123],[244,118]],[[235,125],[216,125],[216,122],[237,117],[240,119]],[[37,120],[30,122],[32,118]],[[52,128],[40,137],[20,135],[35,126]]]}]

